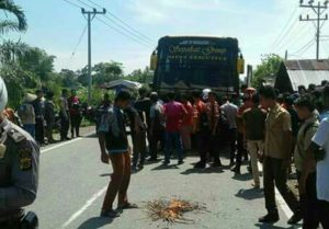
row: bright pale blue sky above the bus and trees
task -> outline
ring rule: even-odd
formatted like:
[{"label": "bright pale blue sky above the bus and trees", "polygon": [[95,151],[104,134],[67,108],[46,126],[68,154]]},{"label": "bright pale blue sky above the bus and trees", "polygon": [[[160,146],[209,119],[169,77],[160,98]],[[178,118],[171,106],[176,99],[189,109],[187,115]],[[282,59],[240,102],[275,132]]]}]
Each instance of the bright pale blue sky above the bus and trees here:
[{"label": "bright pale blue sky above the bus and trees", "polygon": [[[65,0],[14,1],[24,9],[29,30],[20,35],[11,33],[10,37],[56,56],[57,71],[63,68],[77,70],[87,65],[87,33],[77,45],[87,26],[78,7],[91,10],[90,1],[67,0],[77,7]],[[311,22],[298,21],[299,14],[311,18],[315,13],[299,8],[299,0],[92,1],[138,32],[133,38],[121,34],[127,32],[110,21],[115,21],[111,14],[106,18],[99,15],[92,21],[92,64],[118,61],[123,64],[125,73],[148,66],[157,41],[166,35],[237,37],[246,62],[254,67],[264,54],[284,56],[287,50],[290,59],[313,59],[316,56],[315,26]],[[126,30],[131,31],[131,27]],[[320,45],[320,57],[328,58],[329,22],[322,26]]]}]

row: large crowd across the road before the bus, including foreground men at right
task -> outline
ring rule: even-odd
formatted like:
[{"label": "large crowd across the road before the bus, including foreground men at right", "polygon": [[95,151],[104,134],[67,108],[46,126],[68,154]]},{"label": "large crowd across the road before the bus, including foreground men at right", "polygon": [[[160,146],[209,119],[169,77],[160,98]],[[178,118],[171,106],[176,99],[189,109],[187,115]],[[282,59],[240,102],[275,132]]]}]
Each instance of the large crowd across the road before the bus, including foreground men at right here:
[{"label": "large crowd across the road before the bus, including foreground men at right", "polygon": [[[113,105],[104,104],[107,111],[98,122],[102,161],[111,160],[114,171],[102,216],[120,216],[112,208],[116,194],[118,208],[136,207],[126,195],[132,170],[143,170],[146,160],[157,162],[159,150],[168,167],[173,158],[178,165],[184,163],[184,157],[196,149],[200,160],[195,170],[207,164],[222,168],[220,157],[227,152],[231,171],[239,175],[242,162],[248,161],[254,188],[261,187],[262,163],[268,214],[260,222],[280,218],[276,186],[294,211],[288,224],[303,219],[304,228],[318,228],[319,224],[329,228],[329,84],[298,89],[280,94],[272,87],[245,87],[242,96],[222,98],[204,90],[190,95],[168,93],[163,101],[156,92],[147,96],[147,90],[140,89],[135,102],[128,92],[120,92]],[[132,162],[126,126],[133,139]],[[287,187],[287,176],[294,171],[298,201]]]}]

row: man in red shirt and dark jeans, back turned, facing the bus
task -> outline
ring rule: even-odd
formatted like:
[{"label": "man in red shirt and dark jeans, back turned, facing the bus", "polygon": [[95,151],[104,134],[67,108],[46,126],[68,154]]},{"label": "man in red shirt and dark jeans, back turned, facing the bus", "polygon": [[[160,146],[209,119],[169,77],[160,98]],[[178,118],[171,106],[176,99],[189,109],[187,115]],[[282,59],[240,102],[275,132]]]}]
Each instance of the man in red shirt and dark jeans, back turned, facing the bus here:
[{"label": "man in red shirt and dark jeans, back turned, facing the bus", "polygon": [[181,126],[184,116],[188,115],[183,104],[174,101],[174,93],[168,94],[169,102],[164,104],[166,116],[166,146],[164,146],[164,165],[170,163],[171,151],[177,151],[179,164],[183,162],[183,149],[181,140]]}]

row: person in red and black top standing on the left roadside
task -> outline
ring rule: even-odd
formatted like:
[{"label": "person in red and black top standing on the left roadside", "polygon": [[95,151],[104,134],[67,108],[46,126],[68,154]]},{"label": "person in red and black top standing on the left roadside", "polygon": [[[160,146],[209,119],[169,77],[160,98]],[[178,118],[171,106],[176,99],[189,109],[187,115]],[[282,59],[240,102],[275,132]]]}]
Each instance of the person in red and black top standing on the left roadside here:
[{"label": "person in red and black top standing on the left roadside", "polygon": [[75,130],[77,137],[80,137],[80,124],[82,121],[81,111],[80,111],[80,99],[77,96],[77,91],[71,90],[71,96],[68,99],[68,106],[70,113],[70,122],[71,122],[71,137],[75,137]]}]

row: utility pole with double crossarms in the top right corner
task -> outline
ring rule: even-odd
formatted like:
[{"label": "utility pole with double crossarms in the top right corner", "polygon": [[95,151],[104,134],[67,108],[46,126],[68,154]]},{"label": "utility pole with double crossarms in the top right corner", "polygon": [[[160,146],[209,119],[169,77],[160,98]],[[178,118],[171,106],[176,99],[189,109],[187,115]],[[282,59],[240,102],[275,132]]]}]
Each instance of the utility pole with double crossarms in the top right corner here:
[{"label": "utility pole with double crossarms in the top right corner", "polygon": [[328,20],[328,14],[326,16],[321,16],[324,12],[328,9],[328,3],[329,0],[326,0],[324,3],[318,1],[318,5],[314,5],[314,0],[309,0],[308,4],[304,4],[304,1],[300,0],[300,8],[310,8],[315,13],[316,18],[309,18],[307,14],[306,18],[303,18],[303,15],[299,16],[300,22],[316,22],[316,38],[317,38],[317,60],[319,59],[319,54],[320,54],[320,31],[321,31],[321,25],[320,22],[327,21]]}]

